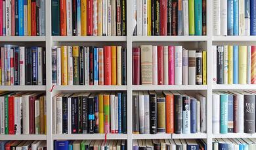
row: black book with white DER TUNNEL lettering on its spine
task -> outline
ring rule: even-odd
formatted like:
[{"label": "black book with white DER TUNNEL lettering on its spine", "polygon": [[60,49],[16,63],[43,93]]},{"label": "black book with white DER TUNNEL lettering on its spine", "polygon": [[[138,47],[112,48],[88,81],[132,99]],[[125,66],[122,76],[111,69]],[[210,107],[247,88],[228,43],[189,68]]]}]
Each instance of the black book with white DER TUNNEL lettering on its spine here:
[{"label": "black book with white DER TUNNEL lettering on its spine", "polygon": [[255,133],[255,95],[244,95],[244,132]]}]

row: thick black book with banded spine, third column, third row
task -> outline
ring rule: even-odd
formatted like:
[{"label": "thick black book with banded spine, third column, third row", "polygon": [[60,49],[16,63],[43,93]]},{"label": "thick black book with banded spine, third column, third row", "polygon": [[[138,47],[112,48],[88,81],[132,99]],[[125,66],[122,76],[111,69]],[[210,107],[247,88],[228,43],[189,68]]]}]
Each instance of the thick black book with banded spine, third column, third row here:
[{"label": "thick black book with banded spine, third column, third row", "polygon": [[157,134],[158,127],[158,104],[156,102],[156,92],[150,91],[150,134]]}]

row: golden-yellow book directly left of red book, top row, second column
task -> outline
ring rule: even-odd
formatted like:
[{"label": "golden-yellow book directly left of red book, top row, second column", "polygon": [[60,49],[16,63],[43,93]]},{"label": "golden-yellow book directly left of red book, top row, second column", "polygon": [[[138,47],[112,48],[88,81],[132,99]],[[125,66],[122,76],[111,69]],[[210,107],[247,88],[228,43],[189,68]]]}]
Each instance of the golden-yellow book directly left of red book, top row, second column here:
[{"label": "golden-yellow book directly left of red book, top row, second column", "polygon": [[87,35],[87,0],[81,0],[81,36]]}]

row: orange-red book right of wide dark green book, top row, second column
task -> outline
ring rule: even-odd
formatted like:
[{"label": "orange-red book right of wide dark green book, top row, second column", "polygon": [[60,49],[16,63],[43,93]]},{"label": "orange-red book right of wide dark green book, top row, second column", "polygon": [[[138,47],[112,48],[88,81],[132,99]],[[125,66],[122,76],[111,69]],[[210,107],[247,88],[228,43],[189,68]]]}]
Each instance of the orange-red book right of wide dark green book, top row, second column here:
[{"label": "orange-red book right of wide dark green book, top row, second column", "polygon": [[60,35],[67,35],[66,0],[60,0]]}]

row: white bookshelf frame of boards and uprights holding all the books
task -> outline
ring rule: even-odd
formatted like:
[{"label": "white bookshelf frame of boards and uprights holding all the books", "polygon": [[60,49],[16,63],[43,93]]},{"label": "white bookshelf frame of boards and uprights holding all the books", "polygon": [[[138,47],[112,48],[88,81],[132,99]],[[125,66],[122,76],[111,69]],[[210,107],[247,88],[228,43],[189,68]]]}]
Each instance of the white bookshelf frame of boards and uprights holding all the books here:
[{"label": "white bookshelf frame of boards and uprights holding all the books", "polygon": [[[207,1],[207,36],[161,36],[161,37],[135,37],[132,34],[132,9],[133,1],[127,1],[127,36],[121,37],[56,37],[51,36],[51,1],[46,2],[46,36],[43,37],[0,37],[0,44],[30,44],[35,42],[46,47],[47,54],[47,84],[32,86],[0,86],[0,91],[45,91],[47,96],[47,134],[46,135],[0,135],[0,140],[47,140],[47,148],[53,149],[54,140],[104,140],[105,134],[53,134],[52,126],[52,97],[62,91],[127,91],[127,134],[107,134],[107,140],[127,140],[127,149],[132,149],[135,139],[207,139],[207,146],[212,146],[213,138],[256,138],[256,134],[212,134],[212,92],[215,90],[228,89],[256,89],[256,85],[213,85],[212,74],[212,51],[215,44],[256,44],[253,36],[213,36],[212,32],[212,9],[213,2]],[[70,85],[62,86],[51,83],[51,48],[62,44],[121,44],[127,46],[127,85]],[[140,44],[173,44],[182,45],[185,48],[201,48],[207,50],[207,85],[132,85],[132,53],[131,50]],[[53,90],[51,90],[53,89]],[[133,91],[146,90],[179,90],[199,91],[207,97],[207,133],[197,134],[133,134],[132,124],[132,93]]]}]

